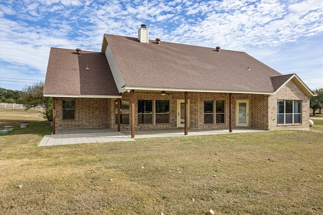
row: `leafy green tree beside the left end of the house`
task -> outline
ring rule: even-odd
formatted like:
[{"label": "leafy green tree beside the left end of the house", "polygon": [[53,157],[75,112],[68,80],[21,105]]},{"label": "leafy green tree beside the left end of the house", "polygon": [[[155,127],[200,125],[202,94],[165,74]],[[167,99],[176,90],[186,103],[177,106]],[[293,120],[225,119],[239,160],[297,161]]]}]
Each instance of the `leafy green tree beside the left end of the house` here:
[{"label": "leafy green tree beside the left end of the house", "polygon": [[26,110],[42,107],[41,112],[45,119],[52,121],[52,98],[43,96],[44,82],[37,82],[31,86],[25,86],[21,93],[21,101],[25,104]]}]

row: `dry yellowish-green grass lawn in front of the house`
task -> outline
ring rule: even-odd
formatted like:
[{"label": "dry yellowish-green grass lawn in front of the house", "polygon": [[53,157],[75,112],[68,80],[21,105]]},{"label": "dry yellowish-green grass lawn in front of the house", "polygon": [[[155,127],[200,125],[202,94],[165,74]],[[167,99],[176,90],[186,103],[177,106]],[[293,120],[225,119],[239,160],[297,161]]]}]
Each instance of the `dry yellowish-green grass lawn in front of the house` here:
[{"label": "dry yellowish-green grass lawn in front of the house", "polygon": [[323,120],[310,131],[38,148],[41,120],[0,136],[0,213],[323,213]]}]

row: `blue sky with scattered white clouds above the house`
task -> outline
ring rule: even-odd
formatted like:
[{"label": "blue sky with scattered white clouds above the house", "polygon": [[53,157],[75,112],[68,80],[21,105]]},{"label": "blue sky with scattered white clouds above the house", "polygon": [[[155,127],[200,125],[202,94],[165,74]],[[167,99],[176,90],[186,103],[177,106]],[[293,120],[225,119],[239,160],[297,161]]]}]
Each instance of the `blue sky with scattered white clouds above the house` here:
[{"label": "blue sky with scattered white clouds above the house", "polygon": [[0,2],[0,87],[44,81],[50,47],[100,51],[103,34],[244,51],[323,88],[323,1]]}]

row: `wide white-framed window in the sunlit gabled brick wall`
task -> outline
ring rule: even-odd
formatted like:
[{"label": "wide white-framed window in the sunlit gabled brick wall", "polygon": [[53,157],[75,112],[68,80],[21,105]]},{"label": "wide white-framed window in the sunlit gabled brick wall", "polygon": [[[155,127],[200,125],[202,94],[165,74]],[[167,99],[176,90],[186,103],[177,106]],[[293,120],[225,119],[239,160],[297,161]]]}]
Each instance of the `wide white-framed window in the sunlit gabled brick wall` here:
[{"label": "wide white-framed window in the sunlit gabled brick wall", "polygon": [[300,124],[301,101],[277,100],[277,124]]}]

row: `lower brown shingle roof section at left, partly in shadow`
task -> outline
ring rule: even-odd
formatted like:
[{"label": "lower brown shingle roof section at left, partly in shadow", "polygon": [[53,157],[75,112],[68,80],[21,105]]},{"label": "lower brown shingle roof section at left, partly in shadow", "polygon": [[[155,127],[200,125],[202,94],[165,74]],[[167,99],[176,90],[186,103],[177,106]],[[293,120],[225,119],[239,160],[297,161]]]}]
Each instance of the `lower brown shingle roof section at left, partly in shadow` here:
[{"label": "lower brown shingle roof section at left, partly in shadow", "polygon": [[103,53],[62,48],[50,49],[43,93],[120,96]]}]

